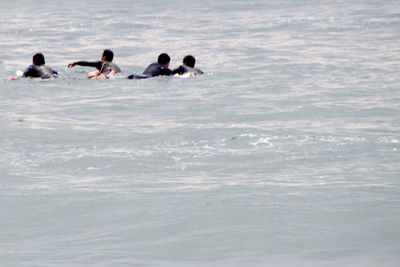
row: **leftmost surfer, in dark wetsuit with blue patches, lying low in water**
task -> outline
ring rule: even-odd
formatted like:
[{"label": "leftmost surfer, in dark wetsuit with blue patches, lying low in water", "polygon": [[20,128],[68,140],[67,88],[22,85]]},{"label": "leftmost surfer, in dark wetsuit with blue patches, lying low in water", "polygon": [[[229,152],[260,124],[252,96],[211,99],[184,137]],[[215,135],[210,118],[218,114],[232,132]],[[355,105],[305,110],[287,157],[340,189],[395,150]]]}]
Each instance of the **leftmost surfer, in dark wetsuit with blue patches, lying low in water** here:
[{"label": "leftmost surfer, in dark wetsuit with blue patches, lying low in water", "polygon": [[42,53],[36,53],[32,58],[32,65],[27,67],[22,74],[22,76],[11,76],[4,78],[4,80],[16,80],[20,77],[23,78],[42,78],[49,79],[52,77],[57,77],[58,72],[45,66],[45,60]]}]

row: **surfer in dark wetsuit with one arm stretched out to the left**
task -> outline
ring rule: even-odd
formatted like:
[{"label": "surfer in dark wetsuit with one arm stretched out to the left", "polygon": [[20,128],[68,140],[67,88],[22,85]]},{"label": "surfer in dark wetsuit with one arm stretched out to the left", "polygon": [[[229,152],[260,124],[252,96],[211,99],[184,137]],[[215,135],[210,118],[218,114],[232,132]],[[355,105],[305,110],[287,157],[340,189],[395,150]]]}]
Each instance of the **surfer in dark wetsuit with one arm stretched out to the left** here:
[{"label": "surfer in dark wetsuit with one arm stretched out to the left", "polygon": [[97,70],[91,71],[88,73],[88,78],[108,78],[114,76],[116,73],[121,72],[121,69],[112,63],[114,59],[114,53],[106,49],[101,56],[101,60],[99,61],[74,61],[68,64],[68,68],[72,68],[75,65],[85,66],[85,67],[94,67]]}]

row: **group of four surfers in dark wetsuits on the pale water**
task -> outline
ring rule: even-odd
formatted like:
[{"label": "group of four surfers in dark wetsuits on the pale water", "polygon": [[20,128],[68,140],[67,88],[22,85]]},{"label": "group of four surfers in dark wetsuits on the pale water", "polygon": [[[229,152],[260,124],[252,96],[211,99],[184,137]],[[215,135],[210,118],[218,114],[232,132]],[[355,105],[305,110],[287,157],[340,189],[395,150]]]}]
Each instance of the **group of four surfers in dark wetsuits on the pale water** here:
[{"label": "group of four surfers in dark wetsuits on the pale water", "polygon": [[[88,78],[107,79],[121,72],[121,69],[114,64],[114,53],[110,49],[104,50],[101,60],[99,61],[73,61],[68,64],[68,68],[76,65],[96,68],[95,71],[88,73]],[[157,62],[150,64],[143,74],[131,74],[128,79],[146,79],[156,76],[171,76],[171,75],[188,75],[195,76],[204,74],[203,71],[195,67],[196,59],[187,55],[183,58],[182,65],[171,70],[169,63],[171,59],[168,54],[162,53],[158,56]],[[21,76],[11,76],[4,80],[16,80],[20,77],[42,78],[49,79],[58,76],[58,72],[47,67],[42,53],[37,53],[33,56],[32,65],[25,69]]]}]

